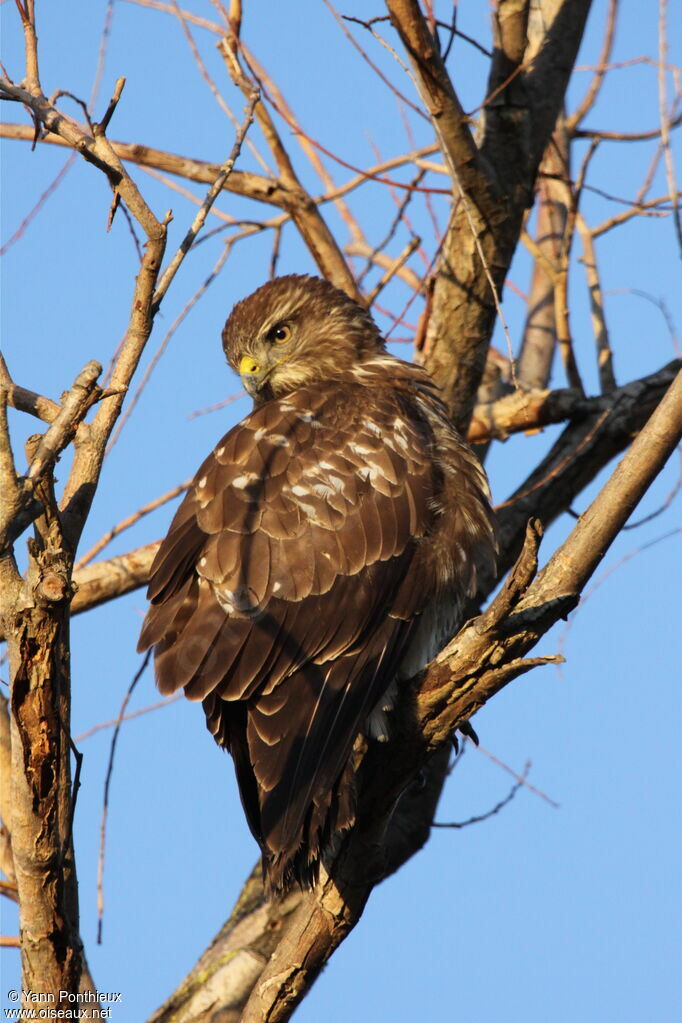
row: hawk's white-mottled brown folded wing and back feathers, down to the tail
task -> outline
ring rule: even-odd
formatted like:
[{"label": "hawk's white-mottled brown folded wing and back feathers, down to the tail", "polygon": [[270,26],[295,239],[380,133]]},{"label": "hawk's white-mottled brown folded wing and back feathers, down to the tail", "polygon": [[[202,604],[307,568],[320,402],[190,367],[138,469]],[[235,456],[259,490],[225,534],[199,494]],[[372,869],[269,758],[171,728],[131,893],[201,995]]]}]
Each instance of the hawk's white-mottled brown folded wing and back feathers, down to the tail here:
[{"label": "hawk's white-mottled brown folded wing and back feathers, down to the tail", "polygon": [[140,639],[163,693],[203,700],[254,834],[300,880],[288,860],[333,833],[331,790],[431,595],[410,572],[435,515],[430,430],[367,393],[303,388],[227,434],[156,555]]}]

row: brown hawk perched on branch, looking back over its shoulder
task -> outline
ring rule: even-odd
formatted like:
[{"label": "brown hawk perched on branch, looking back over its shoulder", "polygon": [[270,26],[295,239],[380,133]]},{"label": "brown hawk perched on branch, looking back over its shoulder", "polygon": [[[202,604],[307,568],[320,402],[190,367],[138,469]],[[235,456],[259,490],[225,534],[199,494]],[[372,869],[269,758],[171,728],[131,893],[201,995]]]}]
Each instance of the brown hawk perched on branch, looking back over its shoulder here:
[{"label": "brown hawk perched on branch, looking back over its shoulder", "polygon": [[275,277],[222,333],[254,409],[154,558],[138,649],[234,761],[268,897],[311,888],[356,808],[354,749],[492,568],[486,475],[433,379],[329,281]]}]

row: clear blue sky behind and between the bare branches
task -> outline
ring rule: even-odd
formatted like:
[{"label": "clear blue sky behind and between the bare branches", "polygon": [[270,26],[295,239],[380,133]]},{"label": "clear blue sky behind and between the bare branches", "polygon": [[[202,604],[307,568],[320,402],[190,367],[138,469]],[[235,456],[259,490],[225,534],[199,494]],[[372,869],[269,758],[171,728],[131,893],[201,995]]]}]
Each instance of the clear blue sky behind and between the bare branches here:
[{"label": "clear blue sky behind and between the bare branches", "polygon": [[[217,17],[201,0],[187,6]],[[406,148],[391,93],[344,39],[322,3],[304,0],[293,17],[289,5],[258,0],[244,6],[245,41],[314,138],[357,166],[373,162],[373,146],[382,157]],[[596,58],[605,6],[601,0],[594,4],[580,64]],[[621,7],[613,59],[654,57],[657,5],[624,0]],[[361,8],[356,4],[345,12],[357,14]],[[679,5],[670,8],[669,60],[679,64],[682,19]],[[101,0],[38,4],[47,93],[63,88],[89,94],[104,9]],[[444,5],[446,17],[448,9]],[[461,3],[460,29],[488,41],[487,10],[471,0]],[[379,12],[377,4],[372,13]],[[14,5],[3,4],[0,14],[3,61],[18,80],[22,45]],[[213,38],[199,30],[195,37],[240,117],[243,102],[225,81]],[[390,55],[370,39],[359,38],[412,96],[408,77],[396,71]],[[485,57],[458,41],[450,70],[464,107],[473,108],[483,97]],[[116,4],[98,112],[119,75],[127,77],[127,86],[109,131],[112,138],[216,162],[225,159],[233,130],[193,65],[174,18]],[[588,81],[588,73],[576,73],[570,107]],[[670,77],[668,88],[670,94]],[[26,122],[19,108],[6,106],[6,119]],[[617,131],[655,128],[655,68],[639,63],[613,72],[587,123]],[[415,144],[430,141],[426,123],[413,119],[413,130]],[[283,136],[295,151],[286,128]],[[651,152],[650,145],[602,145],[593,162],[592,183],[617,196],[634,195]],[[675,155],[679,167],[677,142]],[[39,146],[31,153],[25,143],[3,143],[3,243],[65,158],[56,147]],[[305,183],[314,192],[321,190],[305,161],[298,154],[297,160]],[[245,150],[239,166],[258,169]],[[330,169],[338,183],[350,173],[333,165]],[[173,207],[172,253],[193,208],[145,173],[135,171],[135,177],[156,213]],[[201,188],[188,187],[202,195]],[[660,168],[651,194],[666,190]],[[101,176],[78,162],[2,261],[3,350],[17,383],[52,397],[88,359],[106,365],[125,328],[135,255],[121,216],[105,232],[108,204]],[[219,206],[236,217],[255,216],[253,206],[231,196]],[[444,207],[439,210],[438,201],[436,206],[443,221]],[[357,193],[353,209],[374,242],[395,208],[377,185]],[[620,209],[594,193],[585,195],[590,223]],[[325,216],[345,241],[337,214],[326,208]],[[426,239],[423,209],[415,208],[414,221]],[[210,226],[217,223],[212,218]],[[394,251],[404,243],[405,237],[397,238]],[[264,236],[237,248],[173,337],[107,459],[83,550],[126,515],[191,476],[218,438],[247,410],[244,399],[187,418],[238,387],[224,364],[220,330],[232,304],[267,276],[270,246]],[[185,261],[154,327],[147,363],[221,251],[219,235]],[[616,371],[625,383],[675,354],[661,310],[627,291],[665,299],[679,328],[680,264],[673,225],[670,219],[633,221],[604,235],[597,256],[603,286],[613,293],[607,313]],[[416,257],[412,265],[419,269]],[[283,233],[279,269],[314,269],[290,227]],[[530,262],[519,251],[510,279],[524,291],[529,274]],[[381,301],[397,311],[403,298],[395,286]],[[586,386],[594,392],[589,308],[578,265],[572,298],[578,359]],[[507,288],[503,308],[515,342],[525,304]],[[378,321],[388,326],[387,318]],[[495,343],[504,348],[500,331]],[[405,346],[396,350],[403,356],[409,352]],[[558,369],[553,383],[563,386]],[[11,429],[20,464],[22,441],[36,424],[14,414]],[[524,479],[557,430],[493,447],[488,470],[496,500],[504,500]],[[62,479],[67,463],[64,457],[57,474]],[[678,471],[678,460],[671,459],[636,518],[662,504]],[[581,496],[578,510],[598,483]],[[161,536],[173,506],[128,531],[107,552]],[[564,517],[549,530],[546,553],[572,526],[573,520]],[[657,519],[623,534],[604,568],[678,527],[679,502],[673,502]],[[594,591],[574,617],[560,674],[554,668],[536,670],[476,716],[483,746],[515,770],[531,760],[530,781],[559,808],[524,790],[489,821],[436,831],[425,850],[374,892],[363,920],[299,1010],[298,1020],[335,1023],[353,1017],[395,1023],[426,1012],[476,1023],[634,1023],[643,1015],[661,1023],[679,1019],[680,535],[632,558]],[[139,664],[135,642],[143,613],[144,596],[138,591],[75,619],[75,735],[116,717]],[[548,635],[538,652],[555,652],[563,628]],[[155,698],[147,674],[132,707]],[[110,731],[100,731],[80,744],[85,761],[76,839],[90,966],[99,988],[123,992],[124,1005],[113,1018],[127,1023],[144,1019],[193,965],[227,916],[256,849],[229,758],[212,743],[200,710],[182,702],[129,722],[119,740],[110,793],[104,941],[97,946],[97,849],[109,742]],[[462,820],[489,809],[510,782],[484,754],[468,749],[448,783],[439,819]],[[3,933],[16,933],[12,908],[5,903],[2,913]],[[17,963],[15,951],[2,952],[3,997],[18,982]]]}]

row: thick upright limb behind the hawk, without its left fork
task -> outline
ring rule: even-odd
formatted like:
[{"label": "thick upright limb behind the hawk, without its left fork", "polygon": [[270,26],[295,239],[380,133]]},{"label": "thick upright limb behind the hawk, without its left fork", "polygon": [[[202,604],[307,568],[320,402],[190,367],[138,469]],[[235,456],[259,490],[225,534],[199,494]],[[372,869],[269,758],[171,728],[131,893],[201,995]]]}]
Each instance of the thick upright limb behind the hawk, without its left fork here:
[{"label": "thick upright limb behind the hawk, without its left fork", "polygon": [[[498,189],[503,183],[504,193],[483,216],[475,193],[463,187],[436,275],[422,358],[461,432],[475,401],[504,279],[533,199],[540,158],[563,100],[589,0],[543,0],[540,6],[529,21],[529,36],[537,42],[526,50],[525,70],[518,64],[513,81],[486,107],[482,161]],[[517,17],[522,19],[522,10]],[[514,60],[521,24],[516,21],[511,34],[515,42],[510,39],[508,44]],[[499,88],[497,81],[491,84]]]}]

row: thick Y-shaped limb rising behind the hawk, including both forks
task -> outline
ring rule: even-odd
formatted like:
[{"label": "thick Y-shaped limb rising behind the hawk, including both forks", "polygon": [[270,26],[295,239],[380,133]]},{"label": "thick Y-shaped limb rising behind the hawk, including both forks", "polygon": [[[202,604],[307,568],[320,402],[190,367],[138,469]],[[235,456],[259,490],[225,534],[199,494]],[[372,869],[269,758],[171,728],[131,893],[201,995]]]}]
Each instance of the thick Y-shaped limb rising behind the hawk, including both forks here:
[{"label": "thick Y-shaped limb rising behind the hawk, including both forks", "polygon": [[[524,52],[524,11],[515,10],[508,34],[498,23],[500,45],[488,89],[492,98],[478,148],[416,0],[387,0],[387,6],[453,177],[453,210],[435,275],[422,359],[443,389],[453,420],[466,433],[504,279],[590,2],[544,0],[543,32]],[[504,77],[509,68],[515,71],[511,80],[509,74]]]}]

